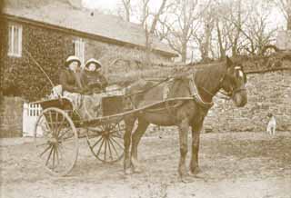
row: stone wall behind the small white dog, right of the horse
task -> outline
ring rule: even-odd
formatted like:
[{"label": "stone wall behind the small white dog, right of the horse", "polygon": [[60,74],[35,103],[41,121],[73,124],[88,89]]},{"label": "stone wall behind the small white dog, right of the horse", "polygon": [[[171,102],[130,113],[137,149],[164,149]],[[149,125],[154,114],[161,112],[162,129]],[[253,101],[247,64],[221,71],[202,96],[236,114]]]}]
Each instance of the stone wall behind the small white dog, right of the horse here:
[{"label": "stone wall behind the small white dog, right of the horse", "polygon": [[266,131],[267,113],[276,116],[277,130],[291,131],[290,71],[248,74],[246,89],[248,102],[243,108],[215,98],[206,117],[206,132]]}]

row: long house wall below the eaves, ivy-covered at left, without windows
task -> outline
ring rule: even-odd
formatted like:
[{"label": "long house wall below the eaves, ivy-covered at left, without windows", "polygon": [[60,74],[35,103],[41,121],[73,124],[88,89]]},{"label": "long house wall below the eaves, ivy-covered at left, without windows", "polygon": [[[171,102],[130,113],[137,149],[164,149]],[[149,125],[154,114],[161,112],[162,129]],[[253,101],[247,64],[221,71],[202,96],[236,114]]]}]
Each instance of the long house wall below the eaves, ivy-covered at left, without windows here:
[{"label": "long house wall below the eaves, ivy-covered at left, without windows", "polygon": [[[22,56],[9,56],[8,52],[8,24],[7,19],[1,19],[0,35],[1,44],[1,92],[5,95],[20,96],[25,100],[40,100],[45,94],[49,94],[51,85],[45,74],[35,64],[26,52],[28,51],[40,64],[45,73],[51,78],[54,84],[58,84],[58,75],[61,67],[64,66],[68,55],[74,54],[74,40],[82,37],[85,40],[85,60],[89,58],[100,59],[104,64],[106,74],[120,73],[124,70],[123,64],[111,65],[112,69],[106,68],[116,58],[143,59],[145,51],[126,45],[108,44],[93,40],[84,35],[74,35],[67,31],[52,29],[46,25],[32,25],[31,23],[18,23],[22,25]],[[15,22],[13,22],[15,23]],[[17,23],[15,23],[17,24]],[[152,53],[153,59],[169,60],[168,57]],[[117,68],[116,68],[117,67]]]}]

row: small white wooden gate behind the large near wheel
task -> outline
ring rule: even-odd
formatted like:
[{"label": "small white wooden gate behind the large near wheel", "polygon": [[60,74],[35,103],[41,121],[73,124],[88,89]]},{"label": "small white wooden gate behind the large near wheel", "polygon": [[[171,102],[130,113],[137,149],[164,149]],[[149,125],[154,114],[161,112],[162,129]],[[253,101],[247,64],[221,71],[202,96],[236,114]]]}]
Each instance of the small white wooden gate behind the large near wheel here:
[{"label": "small white wooden gate behind the large near wheel", "polygon": [[[23,136],[33,137],[37,117],[42,113],[42,107],[39,104],[24,104],[23,113]],[[43,134],[41,127],[38,127],[37,134]]]}]

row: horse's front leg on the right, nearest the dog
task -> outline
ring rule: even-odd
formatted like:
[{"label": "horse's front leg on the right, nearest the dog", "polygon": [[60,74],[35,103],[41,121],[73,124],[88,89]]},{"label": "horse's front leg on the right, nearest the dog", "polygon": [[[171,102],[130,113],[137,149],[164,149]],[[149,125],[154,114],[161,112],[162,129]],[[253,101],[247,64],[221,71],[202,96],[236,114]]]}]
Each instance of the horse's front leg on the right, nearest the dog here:
[{"label": "horse's front leg on the right, nearest the dog", "polygon": [[200,132],[203,121],[192,125],[192,156],[190,161],[190,172],[196,175],[200,172],[198,165],[198,153],[200,144]]}]

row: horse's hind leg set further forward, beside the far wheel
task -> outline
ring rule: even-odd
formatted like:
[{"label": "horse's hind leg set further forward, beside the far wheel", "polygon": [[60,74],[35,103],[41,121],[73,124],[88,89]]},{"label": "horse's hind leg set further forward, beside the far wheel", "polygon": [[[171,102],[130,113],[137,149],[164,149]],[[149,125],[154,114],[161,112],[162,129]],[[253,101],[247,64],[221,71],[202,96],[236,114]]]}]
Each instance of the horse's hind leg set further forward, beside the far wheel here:
[{"label": "horse's hind leg set further forward, beside the far wheel", "polygon": [[148,122],[142,119],[138,119],[138,126],[135,133],[132,135],[132,146],[131,146],[131,163],[134,167],[135,173],[141,172],[140,164],[137,159],[137,146],[142,138],[143,134],[146,132],[146,128],[149,125]]}]

